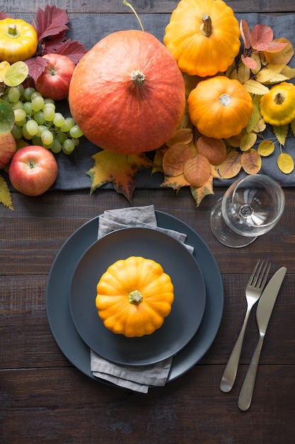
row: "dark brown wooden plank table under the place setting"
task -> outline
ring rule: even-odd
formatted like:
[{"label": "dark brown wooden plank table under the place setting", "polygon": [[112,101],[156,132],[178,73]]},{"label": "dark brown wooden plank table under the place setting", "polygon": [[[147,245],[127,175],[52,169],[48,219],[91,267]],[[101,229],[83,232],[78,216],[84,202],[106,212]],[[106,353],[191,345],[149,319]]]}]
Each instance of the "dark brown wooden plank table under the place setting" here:
[{"label": "dark brown wooden plank table under the place setting", "polygon": [[[54,4],[54,2],[48,2]],[[138,13],[170,13],[177,1],[134,1]],[[237,13],[294,13],[294,0],[228,1]],[[5,6],[5,5],[4,5]],[[2,8],[4,8],[2,6]],[[44,8],[45,1],[38,6]],[[35,2],[10,1],[7,13],[30,17]],[[59,1],[70,16],[126,13],[121,1]],[[23,14],[19,11],[25,11]],[[215,189],[196,209],[188,189],[137,189],[132,206],[180,218],[204,239],[216,258],[224,284],[224,313],[212,346],[202,359],[166,387],[137,394],[79,372],[55,342],[47,321],[45,292],[54,257],[79,227],[106,209],[129,206],[112,189],[93,195],[47,192],[30,198],[13,193],[14,212],[0,206],[0,443],[245,444],[295,440],[294,189],[285,189],[279,224],[255,243],[229,249],[209,231],[209,211],[224,188]],[[256,260],[272,261],[271,274],[287,267],[262,348],[253,402],[238,409],[238,393],[258,331],[252,313],[236,384],[219,389],[226,360],[245,313],[245,284]],[[64,264],[66,270],[66,263]]]}]

